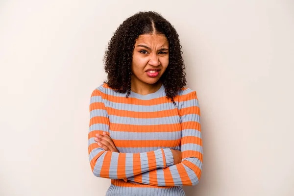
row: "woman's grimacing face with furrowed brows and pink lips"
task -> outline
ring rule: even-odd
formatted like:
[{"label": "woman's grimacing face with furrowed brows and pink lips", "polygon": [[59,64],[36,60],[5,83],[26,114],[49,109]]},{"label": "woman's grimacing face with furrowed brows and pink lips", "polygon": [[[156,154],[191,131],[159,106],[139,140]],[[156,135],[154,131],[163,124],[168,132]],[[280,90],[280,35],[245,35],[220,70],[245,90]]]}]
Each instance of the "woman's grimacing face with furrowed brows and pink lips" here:
[{"label": "woman's grimacing face with furrowed brows and pink lips", "polygon": [[[131,65],[132,84],[156,83],[169,65],[169,42],[161,34],[143,34],[138,37]],[[156,73],[147,72],[156,69]]]}]

